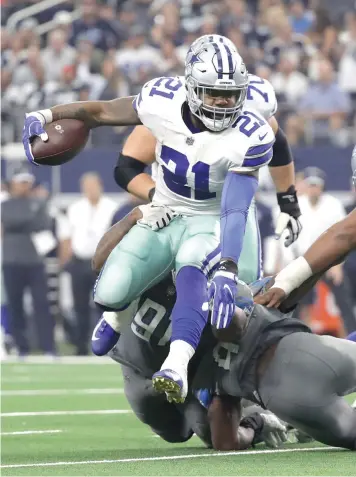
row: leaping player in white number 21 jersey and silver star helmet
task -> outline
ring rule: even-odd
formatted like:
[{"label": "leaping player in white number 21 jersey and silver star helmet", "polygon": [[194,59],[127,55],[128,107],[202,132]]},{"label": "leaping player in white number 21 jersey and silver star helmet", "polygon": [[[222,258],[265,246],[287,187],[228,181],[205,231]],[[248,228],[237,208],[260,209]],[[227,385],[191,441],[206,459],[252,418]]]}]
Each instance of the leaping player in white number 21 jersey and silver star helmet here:
[{"label": "leaping player in white number 21 jersey and silver star helmet", "polygon": [[[235,48],[203,42],[188,55],[185,78],[149,81],[134,98],[29,113],[23,137],[32,161],[31,139],[45,138],[44,125],[60,119],[80,119],[89,127],[142,123],[156,137],[153,203],[179,216],[158,231],[142,223],[133,227],[106,261],[94,298],[108,309],[123,309],[176,271],[170,352],[153,375],[154,387],[176,401],[187,393],[187,366],[206,324],[208,303],[217,328],[228,326],[232,318],[257,170],[272,159],[275,140],[265,119],[244,109],[248,75]],[[114,331],[103,323],[97,340],[113,346],[107,336]]]}]

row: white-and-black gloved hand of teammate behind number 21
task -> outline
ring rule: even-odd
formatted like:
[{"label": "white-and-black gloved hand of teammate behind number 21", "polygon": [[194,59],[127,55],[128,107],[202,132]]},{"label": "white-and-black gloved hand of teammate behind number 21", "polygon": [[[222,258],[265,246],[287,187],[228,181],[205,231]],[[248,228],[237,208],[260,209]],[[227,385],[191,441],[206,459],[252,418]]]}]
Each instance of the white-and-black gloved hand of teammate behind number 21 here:
[{"label": "white-and-black gloved hand of teammate behind number 21", "polygon": [[281,238],[282,233],[288,230],[288,235],[284,241],[284,246],[289,247],[297,240],[302,230],[302,224],[299,221],[301,216],[298,197],[294,186],[286,192],[277,193],[277,201],[281,212],[277,218],[275,236]]}]

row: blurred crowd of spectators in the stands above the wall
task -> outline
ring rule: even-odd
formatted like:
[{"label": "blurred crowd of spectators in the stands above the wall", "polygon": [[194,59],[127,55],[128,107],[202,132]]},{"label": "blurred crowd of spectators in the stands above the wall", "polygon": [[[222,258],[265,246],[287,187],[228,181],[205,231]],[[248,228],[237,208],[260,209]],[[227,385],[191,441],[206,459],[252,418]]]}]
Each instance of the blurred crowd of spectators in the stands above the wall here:
[{"label": "blurred crowd of spectators in the stands above the wall", "polygon": [[[212,33],[272,83],[292,145],[353,141],[354,0],[67,0],[12,26],[14,12],[37,3],[2,1],[3,143],[19,139],[25,111],[132,95],[155,76],[183,74],[189,45]],[[92,144],[120,144],[125,133],[98,130]]]}]

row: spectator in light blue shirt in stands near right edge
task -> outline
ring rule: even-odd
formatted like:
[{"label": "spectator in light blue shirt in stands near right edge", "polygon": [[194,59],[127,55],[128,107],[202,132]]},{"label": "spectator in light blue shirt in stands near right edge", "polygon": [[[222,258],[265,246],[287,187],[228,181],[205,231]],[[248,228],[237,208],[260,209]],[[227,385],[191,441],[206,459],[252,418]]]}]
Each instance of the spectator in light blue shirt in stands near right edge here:
[{"label": "spectator in light blue shirt in stands near right edge", "polygon": [[350,99],[335,82],[335,72],[327,60],[319,63],[318,81],[312,84],[300,104],[306,133],[315,141],[336,142],[345,127]]}]

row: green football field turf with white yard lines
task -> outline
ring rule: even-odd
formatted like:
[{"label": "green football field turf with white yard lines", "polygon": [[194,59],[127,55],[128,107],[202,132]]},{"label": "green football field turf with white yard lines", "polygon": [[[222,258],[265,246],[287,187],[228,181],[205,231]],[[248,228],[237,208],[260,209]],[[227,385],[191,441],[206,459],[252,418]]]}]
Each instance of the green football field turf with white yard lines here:
[{"label": "green football field turf with white yard lines", "polygon": [[71,362],[2,364],[2,475],[356,475],[354,452],[319,443],[234,453],[195,436],[168,444],[130,411],[119,365]]}]

